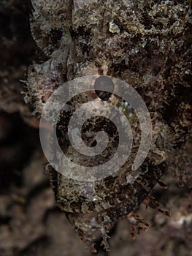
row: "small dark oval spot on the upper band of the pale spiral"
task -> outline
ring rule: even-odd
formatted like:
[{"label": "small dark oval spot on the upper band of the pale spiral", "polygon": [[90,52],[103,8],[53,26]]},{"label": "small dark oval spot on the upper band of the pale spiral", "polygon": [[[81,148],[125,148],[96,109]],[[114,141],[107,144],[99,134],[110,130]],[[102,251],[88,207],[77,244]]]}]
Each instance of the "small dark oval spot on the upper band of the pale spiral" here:
[{"label": "small dark oval spot on the upper band of the pale spiral", "polygon": [[102,100],[110,99],[114,91],[114,83],[111,78],[101,75],[94,83],[97,96]]}]

